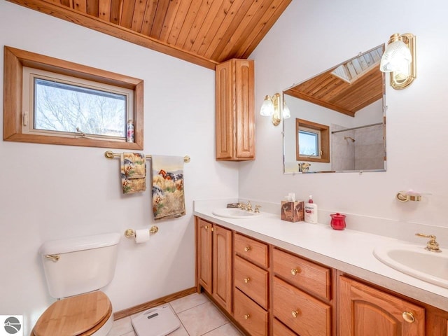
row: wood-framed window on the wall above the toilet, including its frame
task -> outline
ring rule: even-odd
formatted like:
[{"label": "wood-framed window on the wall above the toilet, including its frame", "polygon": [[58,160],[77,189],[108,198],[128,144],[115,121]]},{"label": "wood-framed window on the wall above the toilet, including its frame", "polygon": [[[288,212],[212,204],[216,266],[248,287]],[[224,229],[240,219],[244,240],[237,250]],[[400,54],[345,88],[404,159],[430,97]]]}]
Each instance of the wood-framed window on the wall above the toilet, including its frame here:
[{"label": "wood-framed window on the wall above the toilet, including its frame", "polygon": [[4,56],[4,140],[143,149],[143,80],[7,46]]}]

